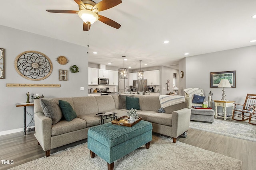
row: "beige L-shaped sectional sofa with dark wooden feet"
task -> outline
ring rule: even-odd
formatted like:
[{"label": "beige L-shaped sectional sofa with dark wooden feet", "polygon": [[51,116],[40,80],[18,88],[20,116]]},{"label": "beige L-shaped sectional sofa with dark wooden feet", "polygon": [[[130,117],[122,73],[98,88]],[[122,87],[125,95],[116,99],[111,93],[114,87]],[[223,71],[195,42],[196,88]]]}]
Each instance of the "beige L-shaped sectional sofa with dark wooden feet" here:
[{"label": "beige L-shaped sectional sofa with dark wooden feet", "polygon": [[[191,98],[185,97],[185,102],[164,108],[165,113],[158,113],[160,109],[158,96],[135,95],[135,97],[139,98],[139,116],[142,120],[152,123],[153,132],[170,136],[176,143],[176,138],[188,130]],[[86,139],[88,129],[101,123],[101,117],[96,113],[112,111],[116,112],[119,118],[126,115],[128,111],[119,109],[119,95],[55,99],[69,102],[77,117],[72,121],[61,119],[52,125],[52,119],[43,113],[40,99],[34,100],[35,137],[38,144],[46,151],[46,157],[50,155],[50,149]]]}]

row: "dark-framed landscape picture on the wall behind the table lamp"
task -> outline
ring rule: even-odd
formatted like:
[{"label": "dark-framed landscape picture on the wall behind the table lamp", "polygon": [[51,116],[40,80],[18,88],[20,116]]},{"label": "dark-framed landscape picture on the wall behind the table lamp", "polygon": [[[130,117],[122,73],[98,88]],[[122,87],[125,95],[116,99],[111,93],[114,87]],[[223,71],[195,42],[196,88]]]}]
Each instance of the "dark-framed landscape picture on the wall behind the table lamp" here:
[{"label": "dark-framed landscape picture on the wall behind the table lamp", "polygon": [[232,88],[236,88],[236,71],[211,72],[211,88],[217,88],[221,79],[227,79]]}]

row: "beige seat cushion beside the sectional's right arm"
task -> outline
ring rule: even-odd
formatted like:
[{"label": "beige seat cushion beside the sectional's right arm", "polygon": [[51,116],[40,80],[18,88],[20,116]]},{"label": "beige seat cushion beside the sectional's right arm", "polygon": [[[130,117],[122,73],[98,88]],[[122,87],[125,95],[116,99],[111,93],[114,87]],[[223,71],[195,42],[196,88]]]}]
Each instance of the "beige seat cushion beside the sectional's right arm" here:
[{"label": "beige seat cushion beside the sectional's right arm", "polygon": [[169,113],[154,113],[148,115],[148,121],[158,123],[160,125],[172,126],[172,114]]}]

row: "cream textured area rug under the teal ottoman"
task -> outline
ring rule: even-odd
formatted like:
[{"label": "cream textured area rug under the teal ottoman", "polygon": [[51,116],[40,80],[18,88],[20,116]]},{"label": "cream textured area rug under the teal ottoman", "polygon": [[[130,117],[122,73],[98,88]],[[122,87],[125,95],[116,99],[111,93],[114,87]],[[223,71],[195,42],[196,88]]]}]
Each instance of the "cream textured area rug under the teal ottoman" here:
[{"label": "cream textured area rug under the teal ottoman", "polygon": [[[150,148],[145,145],[114,163],[114,170],[241,170],[242,161],[193,147],[171,138],[153,135]],[[87,143],[70,147],[11,170],[107,170],[99,156],[90,158]]]}]

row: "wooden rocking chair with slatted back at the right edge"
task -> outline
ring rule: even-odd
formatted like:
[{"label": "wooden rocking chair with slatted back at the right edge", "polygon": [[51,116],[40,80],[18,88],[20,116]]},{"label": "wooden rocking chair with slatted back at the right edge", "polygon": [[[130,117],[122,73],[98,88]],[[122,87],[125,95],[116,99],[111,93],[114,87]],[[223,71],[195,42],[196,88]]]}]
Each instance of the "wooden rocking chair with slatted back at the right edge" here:
[{"label": "wooden rocking chair with slatted back at the right edge", "polygon": [[[247,94],[243,105],[242,104],[234,104],[232,119],[236,120],[236,121],[245,121],[245,120],[250,119],[248,123],[254,124],[254,123],[251,123],[251,119],[252,119],[252,121],[256,121],[256,116],[253,115],[256,113],[254,113],[253,110],[251,111],[249,109],[249,107],[255,103],[255,100],[256,100],[256,94]],[[237,106],[243,106],[243,108],[238,109],[238,108],[236,108]],[[244,113],[247,113],[247,114],[244,114]],[[250,117],[252,117],[252,118],[250,118]]]}]

